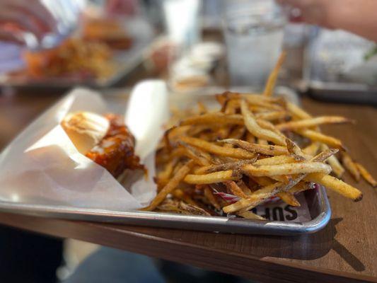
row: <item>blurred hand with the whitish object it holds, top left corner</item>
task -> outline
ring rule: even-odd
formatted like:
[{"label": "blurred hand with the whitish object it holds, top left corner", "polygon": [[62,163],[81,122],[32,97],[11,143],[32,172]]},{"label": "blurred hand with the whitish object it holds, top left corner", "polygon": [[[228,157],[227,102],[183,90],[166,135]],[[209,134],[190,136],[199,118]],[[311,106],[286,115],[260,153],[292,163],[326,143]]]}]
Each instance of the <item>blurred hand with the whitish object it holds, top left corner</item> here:
[{"label": "blurred hand with the whitish object it holds, top left corner", "polygon": [[85,0],[0,0],[0,41],[50,48],[79,21]]}]

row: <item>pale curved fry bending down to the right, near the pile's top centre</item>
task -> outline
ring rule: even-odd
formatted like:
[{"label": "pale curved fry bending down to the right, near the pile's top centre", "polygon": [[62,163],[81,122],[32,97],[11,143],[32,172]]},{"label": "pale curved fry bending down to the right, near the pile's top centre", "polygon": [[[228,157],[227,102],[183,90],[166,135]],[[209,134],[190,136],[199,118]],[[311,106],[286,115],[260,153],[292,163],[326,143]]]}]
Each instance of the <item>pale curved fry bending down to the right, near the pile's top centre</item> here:
[{"label": "pale curved fry bending down to the right, near the pile's top centre", "polygon": [[262,129],[260,125],[257,124],[257,121],[253,117],[253,113],[248,110],[248,105],[245,103],[245,100],[241,101],[241,112],[245,121],[245,126],[255,137],[260,139],[266,139],[267,141],[272,141],[277,145],[285,146],[285,140],[282,137],[270,131],[269,129]]}]

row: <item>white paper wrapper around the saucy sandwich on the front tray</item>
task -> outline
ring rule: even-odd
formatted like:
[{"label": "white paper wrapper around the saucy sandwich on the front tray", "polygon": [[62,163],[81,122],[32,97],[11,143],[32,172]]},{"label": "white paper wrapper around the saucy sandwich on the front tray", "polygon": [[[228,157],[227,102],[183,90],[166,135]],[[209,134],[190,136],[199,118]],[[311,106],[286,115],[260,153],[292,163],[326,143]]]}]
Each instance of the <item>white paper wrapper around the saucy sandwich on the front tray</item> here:
[{"label": "white paper wrapper around the saucy sandwich on the front tray", "polygon": [[[158,89],[158,93],[153,93],[153,89]],[[139,94],[144,100],[155,103],[159,109],[157,113],[168,113],[168,95],[162,82],[146,81],[137,86],[132,93],[134,103],[139,103],[136,98]],[[137,125],[129,124],[130,129],[145,133],[143,137],[137,136],[136,154],[149,169],[149,179],[145,180],[135,171],[128,172],[125,190],[108,171],[80,154],[59,125],[68,112],[82,110],[108,112],[100,94],[78,88],[9,144],[0,155],[0,200],[114,211],[138,209],[150,202],[156,194],[152,180],[154,149],[155,139],[158,141],[163,134],[162,125],[166,122],[163,115],[139,109],[138,114],[149,119],[141,120]],[[128,123],[137,121],[129,113],[126,116]]]}]

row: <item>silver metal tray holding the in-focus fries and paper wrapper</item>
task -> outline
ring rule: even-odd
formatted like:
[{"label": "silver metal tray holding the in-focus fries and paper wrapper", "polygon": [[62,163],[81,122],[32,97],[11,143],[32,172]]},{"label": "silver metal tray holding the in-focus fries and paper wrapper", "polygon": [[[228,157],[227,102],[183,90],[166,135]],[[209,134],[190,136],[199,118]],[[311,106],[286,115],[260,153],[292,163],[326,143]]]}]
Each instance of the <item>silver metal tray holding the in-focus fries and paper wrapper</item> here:
[{"label": "silver metal tray holding the in-focus fries and paper wrapper", "polygon": [[[208,96],[205,93],[206,91],[201,91],[201,95],[190,96],[192,103],[198,99],[207,102],[213,100],[213,96]],[[107,91],[105,93],[110,110],[114,112],[122,112],[124,110],[127,97],[127,91],[124,90]],[[183,100],[185,100],[185,105],[190,104],[187,103],[190,98],[186,97]],[[221,216],[187,216],[160,212],[115,212],[103,209],[80,209],[18,202],[0,202],[0,211],[50,218],[156,226],[173,229],[294,236],[303,233],[314,233],[323,229],[331,216],[330,204],[327,200],[324,187],[318,187],[316,190],[307,190],[303,194],[311,216],[311,220],[306,222],[253,221]]]}]

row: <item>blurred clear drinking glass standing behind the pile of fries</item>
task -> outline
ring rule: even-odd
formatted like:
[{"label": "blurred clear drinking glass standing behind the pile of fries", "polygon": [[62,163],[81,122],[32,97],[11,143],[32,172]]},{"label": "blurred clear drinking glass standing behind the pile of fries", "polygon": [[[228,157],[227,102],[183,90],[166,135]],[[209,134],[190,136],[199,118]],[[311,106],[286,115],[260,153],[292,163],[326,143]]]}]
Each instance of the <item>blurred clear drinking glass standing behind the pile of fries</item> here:
[{"label": "blurred clear drinking glass standing behind the pile of fries", "polygon": [[273,0],[224,2],[224,37],[232,86],[261,90],[274,67],[286,16]]}]

